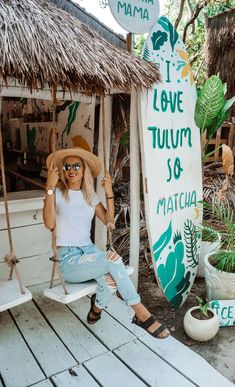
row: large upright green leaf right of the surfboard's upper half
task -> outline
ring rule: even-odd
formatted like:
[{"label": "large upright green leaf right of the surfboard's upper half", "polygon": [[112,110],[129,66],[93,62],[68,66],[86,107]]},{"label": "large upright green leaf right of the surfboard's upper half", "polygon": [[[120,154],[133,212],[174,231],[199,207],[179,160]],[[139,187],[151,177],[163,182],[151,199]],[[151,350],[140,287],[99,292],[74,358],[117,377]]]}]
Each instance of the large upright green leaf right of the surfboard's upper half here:
[{"label": "large upright green leaf right of the surfboard's upper half", "polygon": [[235,96],[225,100],[227,86],[219,76],[212,75],[201,89],[195,106],[194,119],[202,136],[202,160],[216,151],[206,153],[209,141],[228,117]]}]

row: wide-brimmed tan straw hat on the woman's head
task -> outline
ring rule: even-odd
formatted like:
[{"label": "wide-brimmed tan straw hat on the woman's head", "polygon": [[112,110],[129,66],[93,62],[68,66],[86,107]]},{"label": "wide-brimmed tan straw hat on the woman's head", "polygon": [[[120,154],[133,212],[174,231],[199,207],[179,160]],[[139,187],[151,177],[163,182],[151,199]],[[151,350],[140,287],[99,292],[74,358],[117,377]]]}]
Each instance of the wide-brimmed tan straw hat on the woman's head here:
[{"label": "wide-brimmed tan straw hat on the woman's head", "polygon": [[51,161],[53,159],[53,156],[55,156],[54,160],[54,166],[55,167],[61,167],[63,159],[68,156],[76,156],[80,157],[81,159],[85,160],[87,164],[89,165],[91,169],[91,173],[94,177],[98,176],[101,172],[101,160],[95,156],[93,153],[79,148],[79,147],[74,147],[74,148],[69,148],[69,149],[60,149],[55,152],[55,154],[51,153],[46,160],[46,165],[47,168],[49,169],[51,165]]}]

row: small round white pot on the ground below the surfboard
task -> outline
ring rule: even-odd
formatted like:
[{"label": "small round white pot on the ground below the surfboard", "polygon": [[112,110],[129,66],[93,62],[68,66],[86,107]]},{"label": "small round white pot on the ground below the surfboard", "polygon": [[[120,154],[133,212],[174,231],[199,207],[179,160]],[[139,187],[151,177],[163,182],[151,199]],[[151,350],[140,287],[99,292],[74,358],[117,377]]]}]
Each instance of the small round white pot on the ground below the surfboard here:
[{"label": "small round white pot on the ground below the surfboard", "polygon": [[208,320],[199,320],[192,316],[193,310],[199,309],[198,306],[190,308],[184,316],[184,330],[191,339],[196,341],[211,340],[219,330],[219,319],[213,309],[213,317]]}]

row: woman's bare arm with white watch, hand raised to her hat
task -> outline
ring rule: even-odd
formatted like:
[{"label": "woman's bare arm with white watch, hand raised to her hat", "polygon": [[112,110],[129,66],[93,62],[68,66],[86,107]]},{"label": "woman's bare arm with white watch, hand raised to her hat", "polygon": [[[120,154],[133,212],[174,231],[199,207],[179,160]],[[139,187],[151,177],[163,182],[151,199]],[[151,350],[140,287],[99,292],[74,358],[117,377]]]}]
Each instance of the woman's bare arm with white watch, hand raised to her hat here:
[{"label": "woman's bare arm with white watch, hand raised to her hat", "polygon": [[[54,168],[54,160],[48,170],[46,192],[49,189],[55,190],[56,184],[59,180],[59,170]],[[43,221],[46,228],[53,230],[56,224],[56,207],[55,207],[55,191],[52,195],[46,193],[43,206]]]}]

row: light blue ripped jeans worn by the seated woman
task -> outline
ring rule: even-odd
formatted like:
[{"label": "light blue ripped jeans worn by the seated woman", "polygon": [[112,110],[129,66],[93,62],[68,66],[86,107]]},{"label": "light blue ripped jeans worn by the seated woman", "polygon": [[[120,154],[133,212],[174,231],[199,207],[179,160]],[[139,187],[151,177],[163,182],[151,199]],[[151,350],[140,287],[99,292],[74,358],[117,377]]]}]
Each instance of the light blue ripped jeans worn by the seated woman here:
[{"label": "light blue ripped jeans worn by the seated woman", "polygon": [[95,279],[98,283],[95,304],[103,309],[118,290],[127,305],[140,302],[122,258],[112,251],[101,251],[93,243],[81,247],[58,247],[60,269],[72,283]]}]

